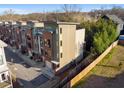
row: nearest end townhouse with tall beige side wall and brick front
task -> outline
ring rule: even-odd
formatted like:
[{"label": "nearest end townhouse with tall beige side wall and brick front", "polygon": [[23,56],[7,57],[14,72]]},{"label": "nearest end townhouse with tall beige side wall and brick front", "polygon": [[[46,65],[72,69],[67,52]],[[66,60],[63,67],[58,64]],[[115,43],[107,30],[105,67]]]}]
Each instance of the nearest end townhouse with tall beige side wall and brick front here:
[{"label": "nearest end townhouse with tall beige side wall and brick front", "polygon": [[[83,52],[85,30],[73,22],[44,22],[43,54],[46,67],[56,72]],[[82,34],[82,37],[81,37]],[[81,50],[81,51],[80,51]]]}]

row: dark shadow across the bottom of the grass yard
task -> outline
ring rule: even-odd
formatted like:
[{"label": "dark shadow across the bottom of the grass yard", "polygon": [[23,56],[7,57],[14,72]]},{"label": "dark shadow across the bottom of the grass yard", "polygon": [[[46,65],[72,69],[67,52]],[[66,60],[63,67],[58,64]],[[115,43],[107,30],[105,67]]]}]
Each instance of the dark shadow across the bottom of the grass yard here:
[{"label": "dark shadow across the bottom of the grass yard", "polygon": [[115,77],[103,77],[98,75],[90,75],[80,88],[124,88],[124,73]]}]

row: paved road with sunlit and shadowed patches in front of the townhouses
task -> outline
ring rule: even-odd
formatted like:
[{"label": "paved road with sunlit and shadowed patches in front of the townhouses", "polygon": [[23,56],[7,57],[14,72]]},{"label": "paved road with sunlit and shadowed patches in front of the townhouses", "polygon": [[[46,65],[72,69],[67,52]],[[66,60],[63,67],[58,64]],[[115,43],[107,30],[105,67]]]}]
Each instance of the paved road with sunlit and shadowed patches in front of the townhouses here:
[{"label": "paved road with sunlit and shadowed patches in front of the townhouses", "polygon": [[[48,81],[41,69],[26,64],[18,55],[5,48],[8,66],[26,88],[38,87]],[[13,62],[11,62],[13,59]]]}]

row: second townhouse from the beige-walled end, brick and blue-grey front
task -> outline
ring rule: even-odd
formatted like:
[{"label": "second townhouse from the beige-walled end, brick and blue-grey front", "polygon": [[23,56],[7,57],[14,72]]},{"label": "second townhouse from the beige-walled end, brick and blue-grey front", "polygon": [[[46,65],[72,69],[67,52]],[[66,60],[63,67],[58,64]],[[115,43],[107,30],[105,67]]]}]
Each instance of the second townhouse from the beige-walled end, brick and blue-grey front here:
[{"label": "second townhouse from the beige-walled end, brick and blue-grey front", "polygon": [[44,23],[39,21],[28,21],[26,34],[29,56],[35,61],[41,61],[42,31]]}]

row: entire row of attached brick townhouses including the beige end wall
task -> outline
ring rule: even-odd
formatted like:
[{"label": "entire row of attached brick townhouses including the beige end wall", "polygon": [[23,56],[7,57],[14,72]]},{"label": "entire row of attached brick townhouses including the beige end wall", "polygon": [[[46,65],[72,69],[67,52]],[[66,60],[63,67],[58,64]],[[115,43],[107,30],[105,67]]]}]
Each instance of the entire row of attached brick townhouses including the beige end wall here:
[{"label": "entire row of attached brick townhouses including the beige end wall", "polygon": [[0,39],[51,71],[83,55],[85,29],[79,23],[53,21],[0,22]]}]

